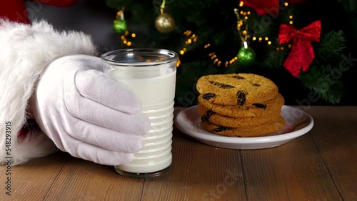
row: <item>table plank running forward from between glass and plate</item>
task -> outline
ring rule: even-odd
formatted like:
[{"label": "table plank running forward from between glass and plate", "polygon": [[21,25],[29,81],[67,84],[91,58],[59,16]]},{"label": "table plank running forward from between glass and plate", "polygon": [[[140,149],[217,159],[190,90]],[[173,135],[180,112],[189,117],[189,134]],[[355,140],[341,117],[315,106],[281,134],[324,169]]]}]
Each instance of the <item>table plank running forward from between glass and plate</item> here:
[{"label": "table plank running forward from between glass and plate", "polygon": [[171,172],[146,180],[143,200],[246,200],[236,150],[212,148],[174,133]]}]

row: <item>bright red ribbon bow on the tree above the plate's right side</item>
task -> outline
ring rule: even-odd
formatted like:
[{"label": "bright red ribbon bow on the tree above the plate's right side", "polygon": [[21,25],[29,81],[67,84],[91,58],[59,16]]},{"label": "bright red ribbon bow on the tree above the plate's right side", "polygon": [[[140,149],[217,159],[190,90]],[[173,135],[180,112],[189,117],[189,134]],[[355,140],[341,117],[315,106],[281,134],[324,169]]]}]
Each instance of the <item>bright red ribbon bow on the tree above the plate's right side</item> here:
[{"label": "bright red ribbon bow on the tree above the plate's right side", "polygon": [[296,30],[293,26],[281,24],[278,38],[279,44],[291,44],[291,52],[288,58],[283,63],[283,66],[294,76],[297,77],[301,68],[303,72],[308,70],[308,67],[315,58],[311,41],[320,41],[321,21],[314,21],[301,30]]}]

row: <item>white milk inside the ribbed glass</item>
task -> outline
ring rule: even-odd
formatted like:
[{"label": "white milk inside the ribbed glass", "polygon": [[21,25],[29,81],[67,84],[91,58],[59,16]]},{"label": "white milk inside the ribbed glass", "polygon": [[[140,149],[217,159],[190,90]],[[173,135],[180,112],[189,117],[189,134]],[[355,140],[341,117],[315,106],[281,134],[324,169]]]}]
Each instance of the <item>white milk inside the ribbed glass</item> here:
[{"label": "white milk inside the ribbed glass", "polygon": [[[134,155],[134,160],[128,165],[116,166],[117,171],[148,173],[164,170],[171,165],[171,143],[174,124],[174,97],[176,86],[176,68],[168,68],[169,64],[151,69],[136,67],[125,68],[124,71],[111,69],[108,75],[121,86],[139,96],[142,112],[146,114],[151,127],[149,134],[144,136],[144,147]],[[171,63],[170,65],[176,65]],[[147,73],[147,71],[151,73]],[[132,78],[141,75],[141,78]],[[154,76],[154,77],[152,77]]]}]

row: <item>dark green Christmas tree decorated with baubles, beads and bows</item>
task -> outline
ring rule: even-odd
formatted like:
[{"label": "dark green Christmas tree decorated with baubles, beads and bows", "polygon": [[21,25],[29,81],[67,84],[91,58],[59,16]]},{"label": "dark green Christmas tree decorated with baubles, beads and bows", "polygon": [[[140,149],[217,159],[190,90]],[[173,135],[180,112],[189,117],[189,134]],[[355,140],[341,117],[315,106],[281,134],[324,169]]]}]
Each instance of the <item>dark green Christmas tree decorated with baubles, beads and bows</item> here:
[{"label": "dark green Christmas tree decorated with baubles, beads and bows", "polygon": [[[218,73],[271,78],[291,104],[295,91],[313,97],[312,102],[340,103],[351,61],[343,53],[344,31],[328,21],[331,14],[316,11],[324,2],[106,0],[118,10],[114,30],[123,48],[166,48],[179,54],[176,104],[181,106],[196,105],[198,78]],[[354,1],[329,4],[346,14],[357,10]]]}]

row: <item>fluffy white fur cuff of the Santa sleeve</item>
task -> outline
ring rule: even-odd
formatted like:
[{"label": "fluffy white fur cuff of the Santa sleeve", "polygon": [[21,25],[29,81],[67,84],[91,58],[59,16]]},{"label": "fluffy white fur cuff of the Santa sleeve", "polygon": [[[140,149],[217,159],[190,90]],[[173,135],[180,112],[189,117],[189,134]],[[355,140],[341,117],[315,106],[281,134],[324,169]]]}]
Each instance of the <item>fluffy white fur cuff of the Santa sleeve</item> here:
[{"label": "fluffy white fur cuff of the Santa sleeve", "polygon": [[54,143],[35,130],[21,143],[19,130],[29,117],[27,104],[44,68],[63,56],[97,56],[90,36],[56,31],[46,21],[32,25],[0,20],[0,163],[6,162],[6,122],[11,122],[11,165],[54,153]]}]

